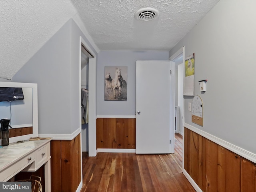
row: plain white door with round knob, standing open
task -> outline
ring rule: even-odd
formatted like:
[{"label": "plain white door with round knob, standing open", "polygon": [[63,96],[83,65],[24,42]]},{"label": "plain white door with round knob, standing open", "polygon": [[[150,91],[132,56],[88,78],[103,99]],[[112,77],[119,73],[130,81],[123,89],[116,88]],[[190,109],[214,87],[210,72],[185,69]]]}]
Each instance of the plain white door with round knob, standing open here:
[{"label": "plain white door with round knob, standing open", "polygon": [[[174,152],[175,79],[170,61],[136,61],[136,153]],[[174,86],[173,86],[174,85]]]}]

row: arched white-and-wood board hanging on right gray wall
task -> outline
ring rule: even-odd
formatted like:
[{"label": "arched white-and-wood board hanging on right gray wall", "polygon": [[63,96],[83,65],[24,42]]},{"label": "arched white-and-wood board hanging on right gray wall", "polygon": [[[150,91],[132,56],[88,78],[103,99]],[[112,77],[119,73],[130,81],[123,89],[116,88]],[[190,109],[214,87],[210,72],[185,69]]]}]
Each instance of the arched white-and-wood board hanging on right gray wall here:
[{"label": "arched white-and-wood board hanging on right gray wall", "polygon": [[204,105],[202,98],[198,95],[194,96],[192,101],[192,122],[203,126],[203,110]]}]

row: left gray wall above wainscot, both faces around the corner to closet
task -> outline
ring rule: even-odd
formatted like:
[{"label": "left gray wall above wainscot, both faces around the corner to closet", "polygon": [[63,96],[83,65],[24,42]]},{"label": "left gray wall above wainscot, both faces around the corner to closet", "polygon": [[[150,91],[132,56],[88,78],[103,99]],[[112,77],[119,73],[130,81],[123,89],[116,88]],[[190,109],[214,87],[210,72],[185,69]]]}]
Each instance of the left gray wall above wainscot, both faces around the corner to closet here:
[{"label": "left gray wall above wainscot, both faces around the corner to closet", "polygon": [[81,126],[80,36],[87,41],[68,20],[12,78],[38,84],[39,134],[72,134]]}]

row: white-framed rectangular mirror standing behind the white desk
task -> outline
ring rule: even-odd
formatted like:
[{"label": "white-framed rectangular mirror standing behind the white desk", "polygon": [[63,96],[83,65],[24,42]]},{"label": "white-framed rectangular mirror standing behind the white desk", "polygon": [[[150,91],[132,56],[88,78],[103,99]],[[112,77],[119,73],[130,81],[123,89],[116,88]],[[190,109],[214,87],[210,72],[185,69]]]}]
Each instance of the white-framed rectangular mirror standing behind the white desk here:
[{"label": "white-framed rectangular mirror standing behind the white desk", "polygon": [[0,82],[0,87],[22,88],[24,99],[0,102],[0,119],[10,119],[9,142],[38,136],[37,84]]}]

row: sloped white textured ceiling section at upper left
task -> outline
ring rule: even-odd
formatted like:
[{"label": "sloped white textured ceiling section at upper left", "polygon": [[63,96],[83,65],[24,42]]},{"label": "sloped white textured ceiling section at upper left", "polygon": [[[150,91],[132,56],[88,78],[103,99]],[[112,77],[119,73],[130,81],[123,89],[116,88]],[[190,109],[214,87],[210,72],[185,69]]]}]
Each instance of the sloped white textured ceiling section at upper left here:
[{"label": "sloped white textured ceiling section at upper left", "polygon": [[0,76],[12,77],[74,14],[70,1],[0,0]]}]

